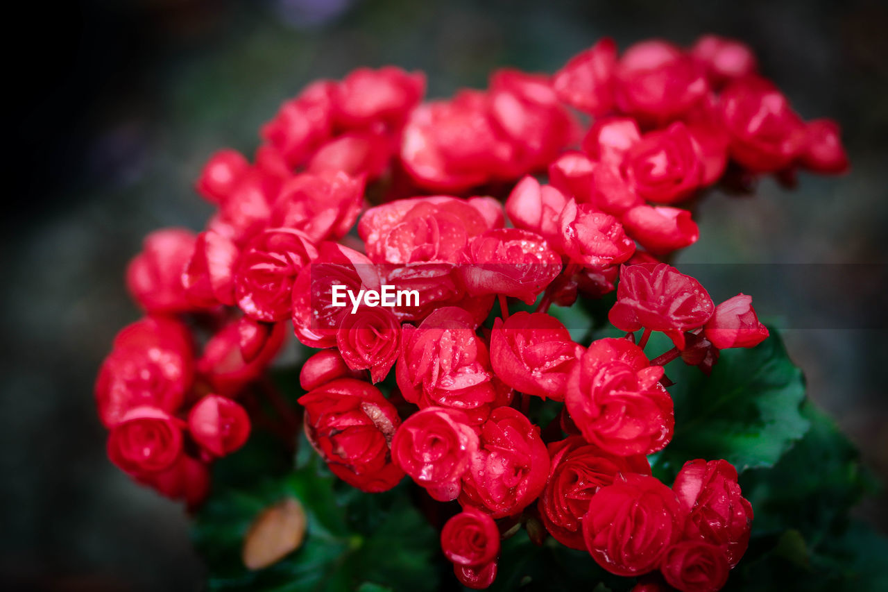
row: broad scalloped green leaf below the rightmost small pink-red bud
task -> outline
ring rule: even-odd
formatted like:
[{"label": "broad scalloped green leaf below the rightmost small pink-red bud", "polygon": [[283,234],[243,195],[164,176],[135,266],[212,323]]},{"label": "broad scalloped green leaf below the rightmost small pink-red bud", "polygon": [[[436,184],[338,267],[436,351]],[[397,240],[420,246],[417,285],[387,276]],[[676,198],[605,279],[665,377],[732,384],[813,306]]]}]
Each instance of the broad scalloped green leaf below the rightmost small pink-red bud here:
[{"label": "broad scalloped green leaf below the rightmost small pink-red bud", "polygon": [[774,330],[757,348],[724,350],[709,377],[680,359],[666,374],[676,383],[676,428],[659,458],[661,476],[691,459],[725,459],[738,471],[772,467],[808,429],[799,412],[805,380]]}]

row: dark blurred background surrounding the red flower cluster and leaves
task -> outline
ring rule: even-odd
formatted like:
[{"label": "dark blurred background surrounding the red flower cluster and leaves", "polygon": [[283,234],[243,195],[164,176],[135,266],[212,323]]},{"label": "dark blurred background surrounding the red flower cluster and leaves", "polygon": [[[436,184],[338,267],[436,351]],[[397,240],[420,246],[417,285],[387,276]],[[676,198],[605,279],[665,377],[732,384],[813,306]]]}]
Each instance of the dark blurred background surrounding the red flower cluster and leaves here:
[{"label": "dark blurred background surrounding the red flower cluster and leaves", "polygon": [[[705,32],[738,37],[802,116],[842,124],[849,175],[709,196],[702,239],[679,267],[716,301],[753,294],[763,316],[787,328],[813,400],[885,480],[888,6],[676,4],[19,6],[7,20],[24,35],[7,52],[12,188],[0,217],[0,588],[202,588],[184,510],[107,461],[91,390],[115,332],[139,316],[123,287],[127,260],[154,228],[202,227],[210,206],[192,184],[212,151],[251,154],[259,125],[317,77],[391,63],[424,69],[429,95],[445,96],[483,86],[499,66],[553,72],[605,35],[621,48],[650,36],[683,45]],[[856,512],[885,532],[886,507],[883,494]]]}]

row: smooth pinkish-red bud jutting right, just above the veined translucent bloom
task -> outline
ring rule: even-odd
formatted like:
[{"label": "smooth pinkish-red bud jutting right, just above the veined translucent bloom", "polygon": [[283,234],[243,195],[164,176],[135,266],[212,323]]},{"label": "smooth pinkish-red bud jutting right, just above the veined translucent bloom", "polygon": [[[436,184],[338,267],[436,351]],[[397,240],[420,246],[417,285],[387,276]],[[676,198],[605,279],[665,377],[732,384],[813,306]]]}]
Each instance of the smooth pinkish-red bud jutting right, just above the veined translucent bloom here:
[{"label": "smooth pinkish-red bud jutting right, just above the veined translucent bloom", "polygon": [[620,221],[626,234],[657,255],[684,249],[700,237],[700,228],[691,220],[691,212],[668,205],[637,205]]}]

